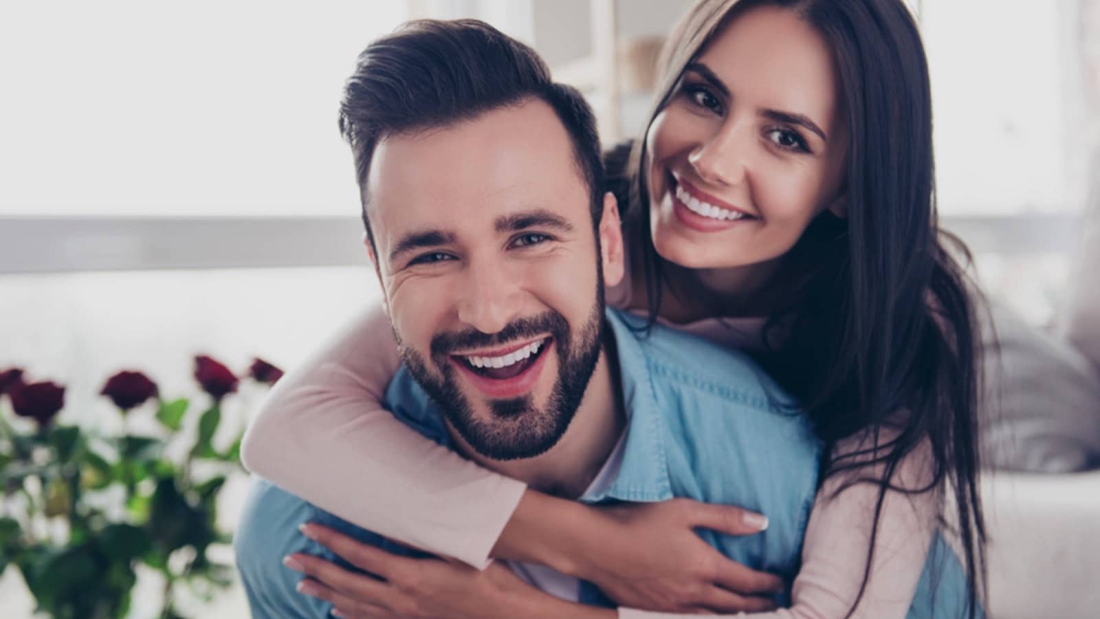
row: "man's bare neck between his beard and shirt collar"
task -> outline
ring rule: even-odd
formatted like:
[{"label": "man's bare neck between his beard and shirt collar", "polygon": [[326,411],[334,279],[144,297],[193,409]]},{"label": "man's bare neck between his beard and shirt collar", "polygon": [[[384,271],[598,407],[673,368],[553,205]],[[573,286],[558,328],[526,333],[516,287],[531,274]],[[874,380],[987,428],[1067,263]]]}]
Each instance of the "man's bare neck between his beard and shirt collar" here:
[{"label": "man's bare neck between his beard and shirt collar", "polygon": [[448,424],[459,452],[485,468],[527,482],[535,490],[570,499],[583,495],[626,427],[613,339],[608,328],[600,360],[573,421],[548,452],[518,460],[486,458],[474,452]]}]

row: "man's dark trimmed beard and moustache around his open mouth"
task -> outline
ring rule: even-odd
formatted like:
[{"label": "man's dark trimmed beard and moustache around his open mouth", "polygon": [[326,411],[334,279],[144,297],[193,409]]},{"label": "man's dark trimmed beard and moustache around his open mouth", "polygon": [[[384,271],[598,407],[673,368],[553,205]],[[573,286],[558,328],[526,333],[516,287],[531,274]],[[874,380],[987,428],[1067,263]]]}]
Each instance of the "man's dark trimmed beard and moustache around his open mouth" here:
[{"label": "man's dark trimmed beard and moustache around his open mouth", "polygon": [[[436,401],[459,435],[486,458],[514,460],[544,454],[565,434],[600,359],[603,330],[604,295],[600,290],[587,322],[575,337],[565,318],[553,311],[516,319],[493,335],[476,329],[441,333],[431,340],[435,372],[428,369],[420,354],[402,344],[400,337],[397,341],[413,378]],[[488,400],[490,421],[477,419],[459,387],[451,351],[497,346],[547,333],[557,345],[559,365],[558,380],[546,405],[538,406],[531,394]],[[546,355],[546,348],[540,354]]]}]

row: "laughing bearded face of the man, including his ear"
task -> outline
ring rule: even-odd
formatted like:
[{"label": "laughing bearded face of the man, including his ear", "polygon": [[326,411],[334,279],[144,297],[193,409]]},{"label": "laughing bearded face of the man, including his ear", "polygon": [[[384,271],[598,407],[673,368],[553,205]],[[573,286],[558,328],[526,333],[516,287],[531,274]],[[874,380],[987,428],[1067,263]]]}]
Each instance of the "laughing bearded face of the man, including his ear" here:
[{"label": "laughing bearded face of the man, including his ear", "polygon": [[[402,354],[481,455],[537,456],[572,420],[622,278],[617,211],[597,249],[565,128],[540,100],[389,137],[366,192]],[[608,213],[609,211],[609,213]]]}]

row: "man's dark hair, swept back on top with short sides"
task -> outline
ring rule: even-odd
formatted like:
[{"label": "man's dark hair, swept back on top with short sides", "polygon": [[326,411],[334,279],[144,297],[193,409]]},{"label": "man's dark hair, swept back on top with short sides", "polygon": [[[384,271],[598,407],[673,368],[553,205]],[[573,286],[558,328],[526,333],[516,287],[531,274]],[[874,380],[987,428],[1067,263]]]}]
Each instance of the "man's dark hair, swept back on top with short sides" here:
[{"label": "man's dark hair, swept back on top with short sides", "polygon": [[340,132],[355,156],[371,247],[366,178],[380,140],[473,120],[531,98],[553,108],[569,132],[590,188],[593,226],[598,226],[604,172],[595,117],[580,93],[554,84],[535,50],[477,20],[411,21],[371,43],[359,55],[340,102]]}]

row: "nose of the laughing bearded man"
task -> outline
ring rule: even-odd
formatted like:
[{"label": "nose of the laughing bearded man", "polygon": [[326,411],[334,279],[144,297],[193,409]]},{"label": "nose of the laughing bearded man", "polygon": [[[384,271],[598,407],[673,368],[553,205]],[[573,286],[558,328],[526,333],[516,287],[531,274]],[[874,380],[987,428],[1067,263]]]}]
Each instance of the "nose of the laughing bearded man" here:
[{"label": "nose of the laughing bearded man", "polygon": [[459,319],[494,334],[519,316],[522,286],[519,274],[491,261],[471,262],[460,292]]}]

